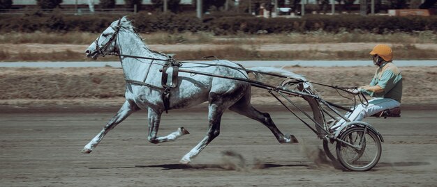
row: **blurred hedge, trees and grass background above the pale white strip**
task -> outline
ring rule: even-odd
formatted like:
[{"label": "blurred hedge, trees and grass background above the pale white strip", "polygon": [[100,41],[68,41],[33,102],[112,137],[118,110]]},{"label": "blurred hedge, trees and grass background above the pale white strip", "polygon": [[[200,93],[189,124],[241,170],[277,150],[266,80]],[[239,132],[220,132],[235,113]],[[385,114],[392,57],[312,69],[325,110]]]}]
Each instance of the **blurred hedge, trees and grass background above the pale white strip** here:
[{"label": "blurred hedge, trees and grass background above the pale white strip", "polygon": [[[151,49],[179,58],[214,55],[231,60],[367,60],[365,51],[374,42],[392,44],[400,51],[397,59],[434,59],[436,52],[434,0],[0,2],[2,61],[87,60],[82,45],[90,44],[124,15],[133,19],[147,44],[161,44]],[[331,43],[348,45],[341,49],[331,47]]]}]

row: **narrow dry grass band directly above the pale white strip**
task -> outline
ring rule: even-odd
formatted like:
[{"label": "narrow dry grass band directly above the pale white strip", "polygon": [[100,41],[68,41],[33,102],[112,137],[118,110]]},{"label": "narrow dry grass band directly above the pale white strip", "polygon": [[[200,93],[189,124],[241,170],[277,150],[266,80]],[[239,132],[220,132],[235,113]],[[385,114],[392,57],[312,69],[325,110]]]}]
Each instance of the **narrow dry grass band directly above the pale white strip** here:
[{"label": "narrow dry grass band directly above the pale white strip", "polygon": [[[417,49],[413,45],[394,45],[397,60],[429,60],[436,59],[436,50]],[[205,49],[200,51],[163,51],[166,54],[176,54],[179,60],[201,59],[204,56],[216,56],[228,60],[369,60],[369,51],[258,51],[234,46],[224,49]],[[75,51],[52,51],[50,53],[31,53],[20,51],[12,54],[0,51],[0,61],[89,61],[84,54]],[[98,60],[119,60],[116,56],[105,56]]]}]

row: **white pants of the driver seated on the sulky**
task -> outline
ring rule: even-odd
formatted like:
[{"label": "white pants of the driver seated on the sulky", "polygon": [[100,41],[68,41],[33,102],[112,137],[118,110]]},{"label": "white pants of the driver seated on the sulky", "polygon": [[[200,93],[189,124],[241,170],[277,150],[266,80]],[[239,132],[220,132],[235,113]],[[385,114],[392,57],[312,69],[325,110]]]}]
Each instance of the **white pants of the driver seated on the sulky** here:
[{"label": "white pants of the driver seated on the sulky", "polygon": [[[353,111],[353,113],[346,113],[345,117],[350,121],[361,121],[364,117],[369,117],[373,114],[376,114],[380,111],[384,111],[391,108],[396,108],[401,106],[401,103],[397,100],[390,98],[378,97],[375,99],[371,99],[369,101],[369,105],[365,106],[364,104],[359,104]],[[339,122],[337,122],[331,129],[336,129],[344,124],[346,120],[341,118]]]}]

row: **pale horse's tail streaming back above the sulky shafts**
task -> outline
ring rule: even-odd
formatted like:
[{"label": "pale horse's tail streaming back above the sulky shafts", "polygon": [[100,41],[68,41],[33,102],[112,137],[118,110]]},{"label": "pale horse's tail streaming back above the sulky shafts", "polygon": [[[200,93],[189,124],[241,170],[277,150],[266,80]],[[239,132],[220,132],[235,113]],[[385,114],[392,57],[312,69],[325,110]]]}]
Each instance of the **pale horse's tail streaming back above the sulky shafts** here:
[{"label": "pale horse's tail streaming back above the sulky shafts", "polygon": [[306,78],[300,74],[293,73],[288,70],[283,70],[278,67],[249,67],[246,68],[248,70],[254,71],[253,74],[255,74],[256,79],[259,81],[262,78],[262,73],[268,73],[268,74],[278,74],[282,76],[287,76],[291,79],[295,79],[297,81],[302,81],[304,88],[309,88],[309,90],[314,90],[313,86],[309,81],[306,80]]}]

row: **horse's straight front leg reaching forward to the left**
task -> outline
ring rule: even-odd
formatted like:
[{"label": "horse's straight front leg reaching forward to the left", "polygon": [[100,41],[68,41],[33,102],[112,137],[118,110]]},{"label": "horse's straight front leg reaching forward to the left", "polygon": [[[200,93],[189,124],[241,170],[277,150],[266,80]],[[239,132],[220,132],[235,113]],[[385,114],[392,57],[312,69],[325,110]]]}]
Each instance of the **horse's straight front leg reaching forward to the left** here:
[{"label": "horse's straight front leg reaching forward to the left", "polygon": [[116,115],[112,117],[112,119],[103,127],[102,131],[96,135],[87,145],[85,145],[84,149],[82,149],[82,153],[90,153],[101,142],[103,136],[106,135],[111,129],[117,126],[120,122],[122,122],[126,117],[131,115],[131,113],[135,111],[139,111],[140,108],[134,103],[129,101],[125,101],[123,106],[119,109]]}]

